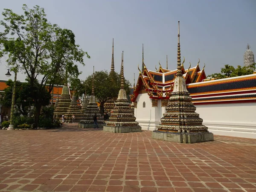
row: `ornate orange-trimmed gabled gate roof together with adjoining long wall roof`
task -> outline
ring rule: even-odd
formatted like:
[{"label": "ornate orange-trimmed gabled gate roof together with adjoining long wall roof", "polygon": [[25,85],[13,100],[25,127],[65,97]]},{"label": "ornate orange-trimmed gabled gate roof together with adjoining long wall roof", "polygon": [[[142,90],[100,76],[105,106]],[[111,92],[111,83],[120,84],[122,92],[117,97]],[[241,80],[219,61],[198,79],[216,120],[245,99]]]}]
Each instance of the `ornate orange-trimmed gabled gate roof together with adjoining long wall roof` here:
[{"label": "ornate orange-trimmed gabled gate roof together with adjoining long wall roof", "polygon": [[[250,52],[249,49],[248,52]],[[205,65],[200,69],[199,63],[200,60],[192,68],[190,64],[188,69],[181,64],[181,73],[195,105],[209,104],[209,102],[256,102],[256,70],[252,75],[212,80],[206,79]],[[177,69],[164,69],[159,63],[159,69],[152,71],[147,69],[144,61],[143,66],[144,71],[139,69],[137,84],[134,84],[130,93],[131,101],[135,102],[140,93],[147,93],[151,99],[169,99]]]}]

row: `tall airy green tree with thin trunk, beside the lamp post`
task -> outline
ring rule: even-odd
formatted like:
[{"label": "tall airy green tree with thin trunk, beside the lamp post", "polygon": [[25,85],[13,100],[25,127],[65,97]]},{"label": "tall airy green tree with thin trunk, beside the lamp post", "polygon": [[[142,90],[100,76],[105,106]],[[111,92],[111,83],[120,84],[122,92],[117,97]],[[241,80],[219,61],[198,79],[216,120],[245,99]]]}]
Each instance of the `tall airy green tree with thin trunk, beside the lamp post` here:
[{"label": "tall airy green tree with thin trunk, beside the lamp post", "polygon": [[51,93],[53,84],[58,84],[63,76],[66,81],[67,77],[77,78],[80,72],[74,62],[84,65],[84,55],[90,56],[79,49],[71,30],[48,22],[43,8],[29,9],[23,5],[23,11],[24,15],[18,15],[4,9],[4,21],[0,21],[4,28],[0,32],[0,57],[8,55],[8,65],[26,73],[33,90],[37,124],[41,107],[46,103],[45,92]]}]

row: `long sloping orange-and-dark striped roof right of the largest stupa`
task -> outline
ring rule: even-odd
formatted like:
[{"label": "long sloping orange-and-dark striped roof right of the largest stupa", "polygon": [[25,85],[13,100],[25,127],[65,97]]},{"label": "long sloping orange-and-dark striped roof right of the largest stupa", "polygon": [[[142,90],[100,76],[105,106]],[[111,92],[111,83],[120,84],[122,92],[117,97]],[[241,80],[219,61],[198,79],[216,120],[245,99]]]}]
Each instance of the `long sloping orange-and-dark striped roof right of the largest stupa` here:
[{"label": "long sloping orange-and-dark striped roof right of the largest stupa", "polygon": [[186,86],[194,104],[256,102],[256,74]]}]

